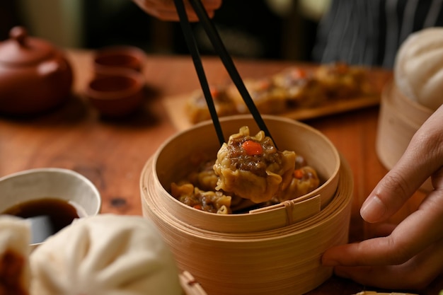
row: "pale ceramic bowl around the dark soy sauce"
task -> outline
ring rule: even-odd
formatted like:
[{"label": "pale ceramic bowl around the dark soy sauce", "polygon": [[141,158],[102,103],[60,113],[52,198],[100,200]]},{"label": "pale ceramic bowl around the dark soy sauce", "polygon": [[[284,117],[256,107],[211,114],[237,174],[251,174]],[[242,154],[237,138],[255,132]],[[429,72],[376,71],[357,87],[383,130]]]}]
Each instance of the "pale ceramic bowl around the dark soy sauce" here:
[{"label": "pale ceramic bowl around the dark soy sauce", "polygon": [[[90,180],[74,170],[64,168],[35,168],[0,178],[0,213],[11,214],[18,206],[38,206],[48,199],[61,200],[76,209],[77,218],[99,214],[100,192]],[[41,202],[41,203],[39,203]],[[57,202],[56,202],[57,203]],[[52,203],[53,204],[53,203]],[[35,210],[37,212],[37,210]],[[14,215],[14,214],[12,214]],[[44,243],[43,235],[50,236],[50,215],[30,216],[30,250]],[[74,219],[72,220],[74,221]],[[54,232],[52,232],[53,234]],[[36,242],[38,241],[38,242]]]}]

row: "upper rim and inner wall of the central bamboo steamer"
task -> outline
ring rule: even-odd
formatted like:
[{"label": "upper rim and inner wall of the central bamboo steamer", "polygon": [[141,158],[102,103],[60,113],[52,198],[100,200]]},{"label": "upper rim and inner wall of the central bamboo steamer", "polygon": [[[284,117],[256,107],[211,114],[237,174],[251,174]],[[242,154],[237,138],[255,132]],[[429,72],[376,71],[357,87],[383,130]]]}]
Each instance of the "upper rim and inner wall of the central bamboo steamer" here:
[{"label": "upper rim and inner wall of the central bamboo steamer", "polygon": [[[301,147],[301,149],[304,150],[303,153],[308,153],[308,151],[313,149],[313,146],[318,146],[318,148],[316,148],[317,150],[314,149],[316,153],[311,153],[311,161],[313,161],[313,158],[316,158],[316,162],[311,163],[311,165],[313,167],[316,167],[316,165],[322,167],[322,173],[319,175],[323,176],[323,182],[318,188],[316,188],[316,190],[313,190],[306,195],[296,197],[287,203],[238,214],[214,214],[204,212],[183,204],[183,202],[172,197],[168,189],[165,187],[166,184],[170,183],[171,177],[165,175],[171,174],[168,171],[170,169],[176,169],[177,167],[168,163],[168,159],[171,156],[176,157],[175,151],[176,149],[181,148],[182,141],[188,142],[190,138],[202,136],[202,134],[206,134],[207,130],[211,130],[212,122],[201,122],[191,129],[177,132],[173,137],[170,137],[163,142],[156,153],[149,158],[149,163],[146,163],[144,166],[144,170],[151,169],[149,173],[153,176],[145,178],[146,183],[141,185],[147,187],[152,185],[151,183],[148,183],[150,180],[153,178],[156,179],[156,181],[159,181],[161,184],[158,187],[159,191],[151,193],[163,194],[165,199],[161,200],[161,202],[168,202],[170,210],[173,210],[176,214],[180,214],[180,216],[184,216],[183,219],[187,219],[187,222],[200,224],[202,228],[209,230],[214,229],[214,224],[218,222],[224,226],[224,228],[222,228],[217,225],[219,231],[224,231],[226,229],[234,232],[246,231],[244,230],[245,226],[248,227],[248,230],[262,231],[264,228],[280,228],[281,226],[292,224],[317,214],[330,202],[330,199],[333,198],[333,195],[337,190],[341,168],[340,153],[326,135],[309,125],[292,119],[272,115],[266,115],[263,116],[263,118],[268,122],[267,124],[271,131],[277,132],[277,137],[280,139],[284,138],[282,134],[285,134],[285,132],[293,132],[292,136],[294,136],[294,134],[302,134],[302,136],[306,136],[309,140],[316,143],[300,145],[303,146]],[[224,117],[222,119],[222,127],[228,127],[226,129],[229,129],[229,131],[236,129],[237,125],[251,125],[251,122],[253,122],[251,115],[236,115]],[[226,125],[224,125],[225,121],[229,122],[226,122]],[[196,130],[194,131],[194,129]],[[216,139],[215,135],[214,139]],[[206,146],[202,147],[202,149],[207,149],[208,146],[210,149],[217,149],[218,141],[215,141],[216,140],[207,142]],[[294,141],[296,144],[300,144],[300,139],[298,137],[289,140],[287,144],[290,144],[291,142],[294,143]],[[286,147],[289,149],[290,145],[289,147]],[[176,161],[188,161],[189,157],[187,158],[186,155],[192,151],[192,145],[188,146],[185,150],[185,156],[177,156]],[[321,155],[321,160],[318,160],[318,156],[313,155]],[[159,158],[161,158],[161,161]],[[327,161],[325,161],[326,158]],[[158,161],[162,164],[158,163]],[[163,166],[163,163],[167,163],[166,166]],[[149,168],[149,166],[151,166],[151,168]],[[178,168],[178,170],[180,170],[180,168]],[[241,226],[238,226],[238,224],[241,224]]]}]

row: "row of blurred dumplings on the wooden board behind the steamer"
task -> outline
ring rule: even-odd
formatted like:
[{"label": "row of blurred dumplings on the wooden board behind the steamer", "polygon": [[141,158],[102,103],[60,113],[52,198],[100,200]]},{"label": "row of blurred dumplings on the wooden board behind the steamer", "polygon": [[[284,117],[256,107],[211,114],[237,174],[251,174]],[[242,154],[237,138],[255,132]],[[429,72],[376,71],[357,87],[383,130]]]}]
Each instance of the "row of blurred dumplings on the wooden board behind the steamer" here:
[{"label": "row of blurred dumplings on the wooden board behind the steamer", "polygon": [[[376,90],[368,71],[343,62],[316,67],[293,66],[272,76],[244,79],[255,106],[262,114],[278,115],[297,108],[316,108],[335,100],[373,96]],[[233,83],[212,86],[214,106],[221,116],[248,113]],[[201,90],[194,91],[185,105],[191,123],[209,120],[209,110]]]}]

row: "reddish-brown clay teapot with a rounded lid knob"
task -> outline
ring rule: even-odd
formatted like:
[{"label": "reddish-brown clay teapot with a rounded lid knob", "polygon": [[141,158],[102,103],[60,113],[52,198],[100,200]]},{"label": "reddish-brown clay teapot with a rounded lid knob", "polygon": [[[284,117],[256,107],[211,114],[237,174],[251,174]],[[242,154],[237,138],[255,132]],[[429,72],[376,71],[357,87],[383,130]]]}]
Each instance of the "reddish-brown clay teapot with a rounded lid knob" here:
[{"label": "reddish-brown clay teapot with a rounded lid knob", "polygon": [[0,42],[0,113],[30,115],[64,103],[73,80],[64,54],[23,27],[9,36]]}]

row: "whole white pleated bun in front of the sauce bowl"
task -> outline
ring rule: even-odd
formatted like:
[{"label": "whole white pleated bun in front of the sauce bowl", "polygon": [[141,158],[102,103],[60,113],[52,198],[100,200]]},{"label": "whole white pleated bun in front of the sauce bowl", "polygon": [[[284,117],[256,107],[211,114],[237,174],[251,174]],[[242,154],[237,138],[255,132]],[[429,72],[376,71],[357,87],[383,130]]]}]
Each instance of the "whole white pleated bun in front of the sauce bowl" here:
[{"label": "whole white pleated bun in front of the sauce bowl", "polygon": [[32,295],[181,295],[176,262],[142,216],[74,221],[30,255]]}]

